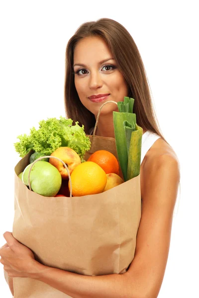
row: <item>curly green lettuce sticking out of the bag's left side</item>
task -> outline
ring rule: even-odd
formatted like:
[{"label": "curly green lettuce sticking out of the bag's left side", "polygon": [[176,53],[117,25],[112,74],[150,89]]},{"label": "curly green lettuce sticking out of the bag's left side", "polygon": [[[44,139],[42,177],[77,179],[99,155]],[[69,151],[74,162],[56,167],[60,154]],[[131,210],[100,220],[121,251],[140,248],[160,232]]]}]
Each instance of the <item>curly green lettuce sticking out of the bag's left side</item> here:
[{"label": "curly green lettuce sticking out of the bag's left side", "polygon": [[70,147],[80,156],[82,161],[86,151],[91,148],[89,137],[86,136],[84,125],[76,122],[72,125],[72,119],[60,116],[60,119],[48,118],[39,122],[39,129],[30,129],[29,135],[17,137],[19,142],[14,143],[16,152],[20,157],[25,156],[30,150],[50,155],[59,147]]}]

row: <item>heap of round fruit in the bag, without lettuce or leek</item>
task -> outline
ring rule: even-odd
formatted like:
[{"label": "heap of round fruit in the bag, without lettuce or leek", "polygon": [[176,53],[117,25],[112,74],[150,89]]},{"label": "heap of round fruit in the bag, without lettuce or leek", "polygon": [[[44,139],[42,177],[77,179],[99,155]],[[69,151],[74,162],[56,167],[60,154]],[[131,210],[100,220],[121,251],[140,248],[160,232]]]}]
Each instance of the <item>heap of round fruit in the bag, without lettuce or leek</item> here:
[{"label": "heap of round fruit in the bag, without lettuce or leek", "polygon": [[[41,156],[45,155],[33,153],[30,164],[18,175],[27,187],[30,166]],[[50,156],[58,157],[67,165],[71,176],[72,196],[99,194],[124,182],[119,176],[116,157],[107,150],[98,150],[83,162],[79,154],[70,147],[59,147]],[[32,191],[46,197],[70,197],[67,169],[56,158],[44,158],[34,163],[30,172],[30,186]]]}]

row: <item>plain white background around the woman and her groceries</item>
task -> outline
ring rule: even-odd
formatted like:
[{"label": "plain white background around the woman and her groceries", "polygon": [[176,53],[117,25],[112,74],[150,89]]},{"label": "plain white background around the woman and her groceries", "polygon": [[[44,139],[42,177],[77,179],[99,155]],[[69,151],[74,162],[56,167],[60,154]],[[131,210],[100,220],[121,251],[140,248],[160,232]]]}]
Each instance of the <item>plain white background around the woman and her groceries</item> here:
[{"label": "plain white background around the woman and her groceries", "polygon": [[[65,116],[65,48],[86,21],[109,17],[133,36],[150,82],[166,140],[181,164],[168,264],[159,298],[199,297],[197,1],[0,2],[0,246],[12,231],[13,143],[50,117]],[[11,294],[0,264],[0,297]]]}]

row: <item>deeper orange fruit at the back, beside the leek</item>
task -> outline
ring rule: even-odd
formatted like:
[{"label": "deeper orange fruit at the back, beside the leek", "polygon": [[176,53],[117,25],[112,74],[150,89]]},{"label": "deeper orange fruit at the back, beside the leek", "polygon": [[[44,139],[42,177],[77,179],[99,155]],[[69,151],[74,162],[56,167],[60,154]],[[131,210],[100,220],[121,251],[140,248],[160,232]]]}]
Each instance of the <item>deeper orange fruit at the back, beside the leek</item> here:
[{"label": "deeper orange fruit at the back, beside the leek", "polygon": [[98,150],[88,159],[100,165],[106,174],[115,173],[119,175],[119,163],[117,158],[107,150]]}]

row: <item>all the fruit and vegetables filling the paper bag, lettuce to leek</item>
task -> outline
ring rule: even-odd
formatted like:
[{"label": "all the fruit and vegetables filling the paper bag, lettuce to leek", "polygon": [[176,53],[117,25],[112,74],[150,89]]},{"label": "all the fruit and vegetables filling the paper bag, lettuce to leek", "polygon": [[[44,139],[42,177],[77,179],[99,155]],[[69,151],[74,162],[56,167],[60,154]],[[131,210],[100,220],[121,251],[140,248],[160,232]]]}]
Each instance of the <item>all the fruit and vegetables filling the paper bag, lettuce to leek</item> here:
[{"label": "all the fruit and vegetables filling the paper bag, lettuce to leek", "polygon": [[[108,102],[107,102],[108,103]],[[136,123],[133,113],[134,99],[124,97],[115,102],[118,111],[113,111],[116,157],[107,150],[94,152],[87,161],[84,156],[91,148],[91,141],[78,122],[72,119],[49,118],[39,122],[39,129],[34,127],[30,134],[20,135],[14,144],[21,157],[30,150],[30,164],[19,174],[23,183],[29,186],[28,174],[31,163],[40,156],[49,156],[49,161],[38,160],[30,171],[31,189],[43,196],[85,196],[99,194],[130,180],[140,173],[142,128]],[[52,158],[50,156],[53,156]],[[68,167],[71,179],[69,181]],[[119,166],[122,178],[119,176]],[[72,190],[71,186],[72,185]]]}]

